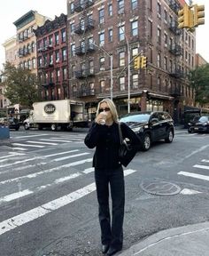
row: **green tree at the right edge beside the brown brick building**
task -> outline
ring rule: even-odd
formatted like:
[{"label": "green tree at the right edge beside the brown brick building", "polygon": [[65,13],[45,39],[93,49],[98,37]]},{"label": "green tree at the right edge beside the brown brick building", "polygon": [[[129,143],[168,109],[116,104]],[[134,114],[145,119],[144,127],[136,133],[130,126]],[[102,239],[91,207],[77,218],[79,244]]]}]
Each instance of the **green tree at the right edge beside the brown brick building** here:
[{"label": "green tree at the right edge beside the brown brick building", "polygon": [[195,90],[195,101],[202,106],[209,103],[209,64],[191,70],[189,81]]}]

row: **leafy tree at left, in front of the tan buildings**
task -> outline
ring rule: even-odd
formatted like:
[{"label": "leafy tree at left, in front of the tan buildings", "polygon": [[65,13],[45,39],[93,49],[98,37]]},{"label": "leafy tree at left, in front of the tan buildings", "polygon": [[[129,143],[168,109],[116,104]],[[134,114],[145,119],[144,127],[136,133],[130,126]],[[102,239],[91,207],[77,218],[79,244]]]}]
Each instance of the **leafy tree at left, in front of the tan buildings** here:
[{"label": "leafy tree at left, in front of the tan buildings", "polygon": [[29,69],[16,68],[10,62],[4,64],[4,96],[12,104],[31,107],[35,101],[41,100],[40,85],[37,76]]}]

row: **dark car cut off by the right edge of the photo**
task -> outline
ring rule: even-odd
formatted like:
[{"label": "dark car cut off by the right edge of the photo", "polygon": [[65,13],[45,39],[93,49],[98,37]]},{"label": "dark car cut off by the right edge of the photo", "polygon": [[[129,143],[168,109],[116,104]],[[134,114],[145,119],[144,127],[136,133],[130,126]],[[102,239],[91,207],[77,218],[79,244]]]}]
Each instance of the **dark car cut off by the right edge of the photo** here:
[{"label": "dark car cut off by the right edge of the photo", "polygon": [[188,124],[188,132],[209,132],[209,116],[195,116]]}]

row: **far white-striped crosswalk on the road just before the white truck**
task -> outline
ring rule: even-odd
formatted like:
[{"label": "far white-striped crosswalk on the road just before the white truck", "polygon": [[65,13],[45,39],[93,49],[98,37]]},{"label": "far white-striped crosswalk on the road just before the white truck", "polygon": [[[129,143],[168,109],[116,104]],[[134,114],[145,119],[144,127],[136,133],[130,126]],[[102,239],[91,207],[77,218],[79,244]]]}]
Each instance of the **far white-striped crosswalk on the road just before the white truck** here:
[{"label": "far white-striped crosswalk on the road just before the white truck", "polygon": [[[84,134],[71,134],[59,137],[48,136],[47,139],[37,138],[38,136],[43,137],[44,135],[47,134],[29,136],[29,140],[23,140],[22,142],[12,142],[12,149],[17,151],[27,151],[31,148],[46,148],[50,146],[57,146],[63,143],[83,143],[84,140]],[[16,137],[16,139],[27,139],[27,136]]]}]

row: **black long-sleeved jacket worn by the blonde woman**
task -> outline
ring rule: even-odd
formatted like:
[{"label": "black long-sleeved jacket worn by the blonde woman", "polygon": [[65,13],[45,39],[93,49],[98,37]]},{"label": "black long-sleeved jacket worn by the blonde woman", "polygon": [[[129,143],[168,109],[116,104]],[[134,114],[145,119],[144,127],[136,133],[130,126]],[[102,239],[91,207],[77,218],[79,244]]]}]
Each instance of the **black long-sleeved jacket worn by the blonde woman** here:
[{"label": "black long-sleeved jacket worn by the blonde woman", "polygon": [[[93,123],[84,140],[88,148],[95,148],[93,167],[96,169],[117,169],[121,166],[119,160],[120,134],[119,124],[101,125]],[[121,123],[123,138],[130,140],[131,146],[137,150],[141,141],[127,124]]]}]

